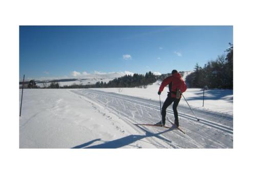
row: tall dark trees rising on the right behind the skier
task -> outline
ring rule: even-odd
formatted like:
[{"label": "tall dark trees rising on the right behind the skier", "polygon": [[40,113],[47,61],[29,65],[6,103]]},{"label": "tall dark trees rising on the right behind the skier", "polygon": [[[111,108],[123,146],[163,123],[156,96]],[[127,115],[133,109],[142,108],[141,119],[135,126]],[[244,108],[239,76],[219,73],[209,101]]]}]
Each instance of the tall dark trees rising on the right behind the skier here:
[{"label": "tall dark trees rising on the right behind the skier", "polygon": [[198,63],[194,72],[186,77],[189,87],[233,89],[233,44],[229,43],[227,54],[208,61],[202,68]]}]

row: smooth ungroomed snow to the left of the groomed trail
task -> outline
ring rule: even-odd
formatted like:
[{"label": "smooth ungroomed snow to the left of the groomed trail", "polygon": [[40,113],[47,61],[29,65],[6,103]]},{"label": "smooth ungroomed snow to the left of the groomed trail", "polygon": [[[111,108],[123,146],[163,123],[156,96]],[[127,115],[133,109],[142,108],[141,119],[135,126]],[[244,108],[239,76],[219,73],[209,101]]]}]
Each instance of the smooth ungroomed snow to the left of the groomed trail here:
[{"label": "smooth ungroomed snow to the left of the groomed trail", "polygon": [[[97,145],[135,133],[123,123],[100,105],[66,89],[25,89],[19,147],[81,148],[84,142]],[[133,147],[154,146],[147,142],[123,146]]]}]

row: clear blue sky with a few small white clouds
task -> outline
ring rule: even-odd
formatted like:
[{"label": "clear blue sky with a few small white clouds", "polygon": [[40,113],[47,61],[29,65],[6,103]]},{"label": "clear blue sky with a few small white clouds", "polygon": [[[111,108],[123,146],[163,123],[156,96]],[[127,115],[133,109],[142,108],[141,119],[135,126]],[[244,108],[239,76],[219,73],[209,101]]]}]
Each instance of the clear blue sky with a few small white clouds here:
[{"label": "clear blue sky with a few small white clouds", "polygon": [[190,71],[229,42],[232,26],[20,26],[19,77]]}]

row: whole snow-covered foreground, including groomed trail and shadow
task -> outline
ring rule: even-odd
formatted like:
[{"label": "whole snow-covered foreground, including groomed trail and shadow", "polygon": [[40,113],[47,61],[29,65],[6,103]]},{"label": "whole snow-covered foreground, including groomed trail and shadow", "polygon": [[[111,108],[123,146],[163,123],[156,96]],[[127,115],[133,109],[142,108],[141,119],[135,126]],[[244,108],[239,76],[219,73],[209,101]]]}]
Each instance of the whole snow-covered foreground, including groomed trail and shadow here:
[{"label": "whole snow-covered foreground, including groomed trail and shadow", "polygon": [[[232,91],[184,93],[175,128],[137,126],[160,120],[159,82],[147,88],[24,89],[20,148],[232,148]],[[161,95],[165,100],[167,88]],[[21,90],[19,91],[21,94]],[[128,96],[127,96],[128,95]],[[217,112],[217,113],[215,113]],[[167,117],[173,121],[172,106]],[[171,126],[166,121],[167,126]]]}]

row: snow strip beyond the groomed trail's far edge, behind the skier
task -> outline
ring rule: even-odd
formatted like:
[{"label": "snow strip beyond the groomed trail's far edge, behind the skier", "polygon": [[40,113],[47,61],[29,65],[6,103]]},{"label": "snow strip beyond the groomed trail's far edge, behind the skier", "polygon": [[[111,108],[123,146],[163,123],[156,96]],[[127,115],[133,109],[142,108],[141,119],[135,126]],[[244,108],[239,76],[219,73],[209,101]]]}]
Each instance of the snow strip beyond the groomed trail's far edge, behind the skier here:
[{"label": "snow strip beyond the groomed trail's far edge, behind the skier", "polygon": [[[104,92],[112,92],[117,94],[140,97],[144,99],[159,101],[157,94],[161,82],[157,81],[147,88],[94,88]],[[93,89],[93,88],[92,88]],[[167,97],[168,86],[164,88],[161,93],[161,101]],[[183,93],[187,102],[191,107],[205,110],[218,111],[228,115],[233,114],[233,90],[230,89],[209,89],[204,92],[204,106],[203,106],[203,89],[188,88]],[[179,104],[187,105],[184,98]]]}]

